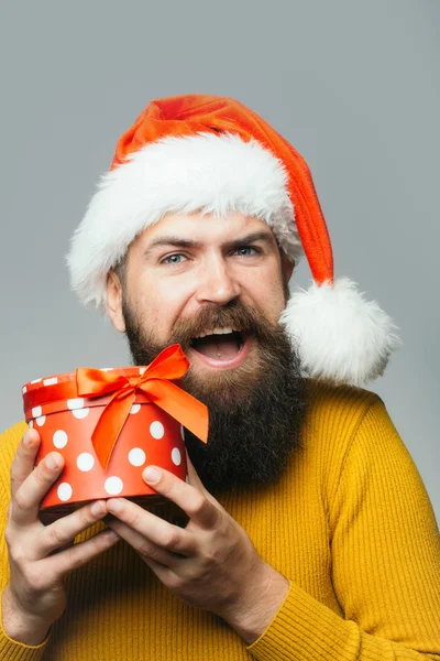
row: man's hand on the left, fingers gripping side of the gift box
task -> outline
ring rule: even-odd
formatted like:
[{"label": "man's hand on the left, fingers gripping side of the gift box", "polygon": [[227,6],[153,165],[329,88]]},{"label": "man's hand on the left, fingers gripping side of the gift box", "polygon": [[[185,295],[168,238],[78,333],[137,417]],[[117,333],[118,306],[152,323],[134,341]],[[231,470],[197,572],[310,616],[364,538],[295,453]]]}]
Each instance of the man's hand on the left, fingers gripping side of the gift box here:
[{"label": "man's hand on the left, fingers gripping side of the gift box", "polygon": [[62,473],[64,459],[52,452],[35,468],[38,446],[40,434],[28,430],[11,466],[11,502],[4,532],[10,583],[2,595],[2,624],[10,638],[25,644],[43,642],[51,625],[64,613],[66,574],[120,539],[112,530],[105,530],[74,545],[77,534],[107,516],[106,500],[43,525],[40,503]]}]

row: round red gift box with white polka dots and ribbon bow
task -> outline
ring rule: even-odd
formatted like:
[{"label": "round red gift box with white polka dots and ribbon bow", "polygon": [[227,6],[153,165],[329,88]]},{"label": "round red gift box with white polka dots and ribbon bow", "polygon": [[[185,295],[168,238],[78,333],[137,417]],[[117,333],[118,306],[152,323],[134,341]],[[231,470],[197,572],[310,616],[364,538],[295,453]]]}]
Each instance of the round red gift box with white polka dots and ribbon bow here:
[{"label": "round red gift box with white polka dots and ribbon bow", "polygon": [[208,437],[207,408],[177,383],[188,368],[172,345],[146,367],[78,368],[26,383],[25,419],[41,436],[36,465],[52,451],[65,459],[41,509],[113,496],[154,499],[142,479],[150,464],[186,479],[184,426]]}]

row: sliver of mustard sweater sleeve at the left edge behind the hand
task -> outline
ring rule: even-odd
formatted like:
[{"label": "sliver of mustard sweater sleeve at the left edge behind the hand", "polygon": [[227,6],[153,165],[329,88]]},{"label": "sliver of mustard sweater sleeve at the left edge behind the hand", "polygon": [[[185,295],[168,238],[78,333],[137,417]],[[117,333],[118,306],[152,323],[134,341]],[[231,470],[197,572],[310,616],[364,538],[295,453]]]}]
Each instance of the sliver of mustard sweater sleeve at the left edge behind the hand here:
[{"label": "sliver of mustard sweater sleeve at the left edge behind the hand", "polygon": [[0,659],[2,661],[40,661],[43,658],[48,637],[38,646],[26,646],[7,636],[3,629],[2,593],[9,583],[8,548],[4,530],[8,522],[8,506],[11,499],[10,466],[15,448],[28,425],[20,423],[0,435]]}]

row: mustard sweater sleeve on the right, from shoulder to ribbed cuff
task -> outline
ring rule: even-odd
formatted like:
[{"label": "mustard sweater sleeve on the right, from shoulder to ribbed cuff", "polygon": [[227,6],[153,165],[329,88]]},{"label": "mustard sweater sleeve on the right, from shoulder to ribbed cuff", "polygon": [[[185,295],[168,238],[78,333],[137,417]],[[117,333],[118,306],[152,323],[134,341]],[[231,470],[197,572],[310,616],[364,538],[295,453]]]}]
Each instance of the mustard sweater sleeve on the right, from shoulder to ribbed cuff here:
[{"label": "mustard sweater sleeve on the right, from shoulder to ribbed cuff", "polygon": [[425,485],[381,400],[348,447],[329,512],[344,617],[290,582],[260,661],[440,660],[440,535]]}]

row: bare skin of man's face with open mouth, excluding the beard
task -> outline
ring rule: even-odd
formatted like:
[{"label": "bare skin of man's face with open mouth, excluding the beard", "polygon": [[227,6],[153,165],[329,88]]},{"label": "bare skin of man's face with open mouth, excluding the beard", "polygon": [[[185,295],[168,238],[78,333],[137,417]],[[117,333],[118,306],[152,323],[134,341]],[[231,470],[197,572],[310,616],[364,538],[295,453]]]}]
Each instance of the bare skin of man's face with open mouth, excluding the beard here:
[{"label": "bare skin of man's face with open mouth, excluding the beard", "polygon": [[[242,303],[276,324],[286,302],[284,283],[292,270],[293,264],[280,257],[272,230],[262,220],[238,213],[223,219],[168,215],[130,247],[125,304],[136,311],[142,327],[157,345],[169,343],[176,327],[186,323],[197,335],[208,333],[208,339],[193,337],[186,353],[195,376],[216,381],[221,372],[253,364],[258,347],[250,328],[232,328],[238,333],[224,334],[227,324],[206,326],[209,311]],[[112,284],[109,312],[123,332],[121,292],[112,292]],[[195,324],[204,315],[202,323]],[[209,333],[212,330],[215,334]]]}]

